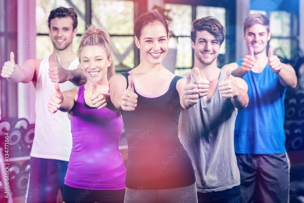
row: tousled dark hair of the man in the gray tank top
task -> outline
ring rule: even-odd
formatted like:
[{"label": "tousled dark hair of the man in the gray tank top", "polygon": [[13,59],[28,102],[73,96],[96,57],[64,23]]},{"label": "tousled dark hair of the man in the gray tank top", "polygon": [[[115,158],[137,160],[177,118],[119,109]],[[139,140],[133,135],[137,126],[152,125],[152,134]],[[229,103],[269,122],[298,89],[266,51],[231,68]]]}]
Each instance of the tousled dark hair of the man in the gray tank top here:
[{"label": "tousled dark hair of the man in the gray tank top", "polygon": [[221,45],[226,38],[226,28],[213,16],[196,19],[192,23],[191,40],[195,43],[196,32],[206,30],[212,34]]}]

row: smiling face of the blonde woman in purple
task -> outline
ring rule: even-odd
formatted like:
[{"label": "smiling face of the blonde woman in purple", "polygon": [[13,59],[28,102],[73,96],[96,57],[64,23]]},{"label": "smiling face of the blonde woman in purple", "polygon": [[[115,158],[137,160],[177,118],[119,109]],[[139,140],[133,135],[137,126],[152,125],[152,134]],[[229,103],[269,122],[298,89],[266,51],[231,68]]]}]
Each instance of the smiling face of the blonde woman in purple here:
[{"label": "smiling face of the blonde woman in purple", "polygon": [[80,53],[80,64],[83,74],[93,82],[107,80],[108,67],[111,65],[112,57],[108,59],[103,46],[86,46]]}]

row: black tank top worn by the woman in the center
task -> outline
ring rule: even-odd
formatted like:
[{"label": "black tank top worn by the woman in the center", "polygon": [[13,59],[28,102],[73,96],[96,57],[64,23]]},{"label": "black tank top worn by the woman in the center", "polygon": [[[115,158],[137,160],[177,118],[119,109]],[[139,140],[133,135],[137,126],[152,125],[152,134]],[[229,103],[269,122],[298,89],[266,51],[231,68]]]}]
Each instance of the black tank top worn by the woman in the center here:
[{"label": "black tank top worn by the woman in the center", "polygon": [[[129,73],[122,75],[128,87]],[[179,79],[175,76],[168,91],[155,98],[134,90],[137,107],[122,111],[128,142],[126,187],[130,189],[169,189],[195,183],[191,159],[178,138]]]}]

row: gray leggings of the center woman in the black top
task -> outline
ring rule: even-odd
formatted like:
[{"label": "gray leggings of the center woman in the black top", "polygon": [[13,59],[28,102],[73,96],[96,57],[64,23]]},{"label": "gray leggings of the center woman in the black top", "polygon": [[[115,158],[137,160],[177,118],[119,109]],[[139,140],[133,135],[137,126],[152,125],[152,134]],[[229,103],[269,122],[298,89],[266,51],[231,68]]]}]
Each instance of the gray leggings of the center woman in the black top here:
[{"label": "gray leggings of the center woman in the black top", "polygon": [[133,190],[126,187],[124,203],[197,203],[195,183],[173,189]]}]

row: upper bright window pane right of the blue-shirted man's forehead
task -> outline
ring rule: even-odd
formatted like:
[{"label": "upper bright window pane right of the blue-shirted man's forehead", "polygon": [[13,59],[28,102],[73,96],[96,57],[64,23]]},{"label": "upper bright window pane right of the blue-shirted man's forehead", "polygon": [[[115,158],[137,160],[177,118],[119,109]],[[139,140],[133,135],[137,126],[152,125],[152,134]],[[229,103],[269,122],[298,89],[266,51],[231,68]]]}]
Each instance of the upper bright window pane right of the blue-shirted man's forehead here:
[{"label": "upper bright window pane right of the blue-shirted man's forehead", "polygon": [[270,12],[270,31],[273,37],[290,37],[291,15],[286,11]]}]

